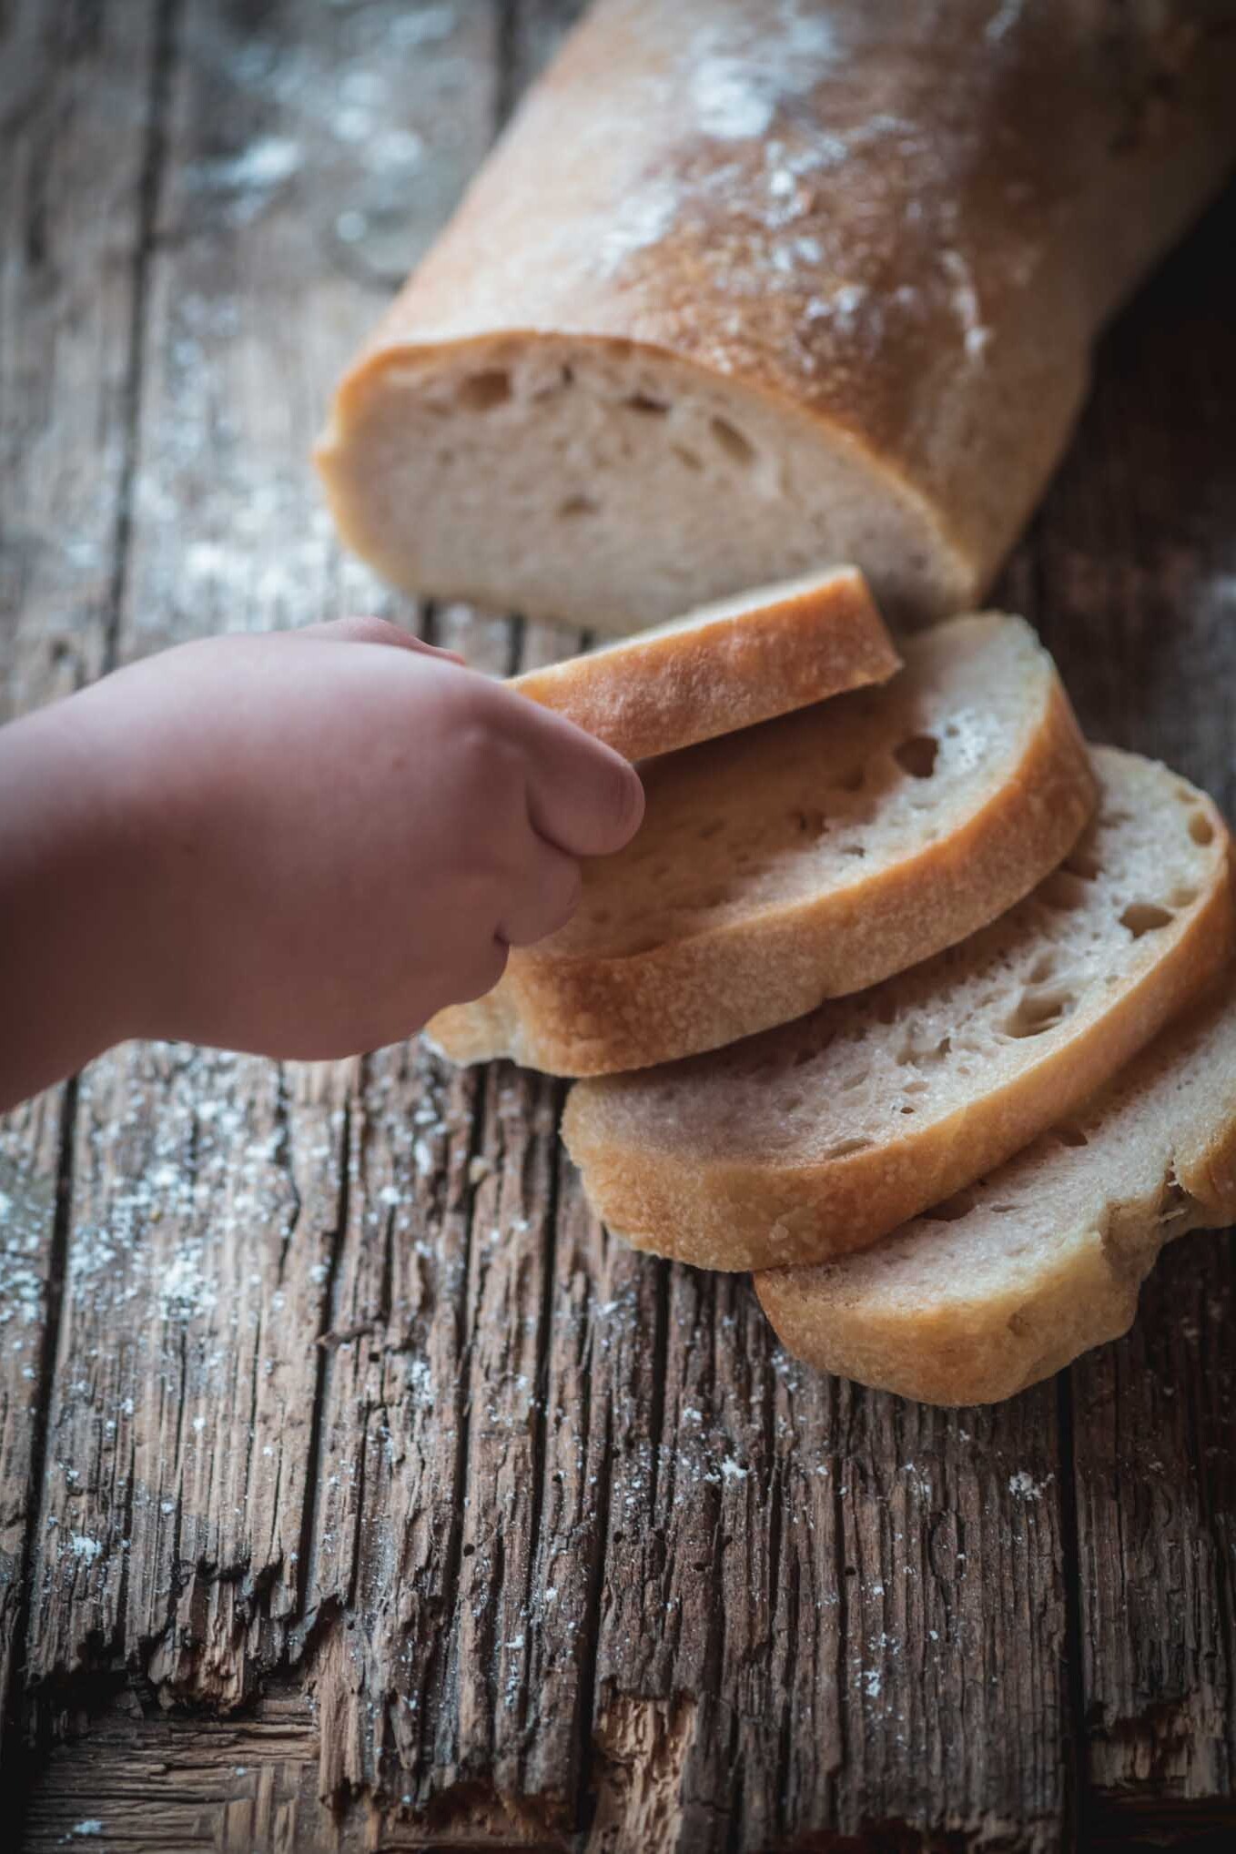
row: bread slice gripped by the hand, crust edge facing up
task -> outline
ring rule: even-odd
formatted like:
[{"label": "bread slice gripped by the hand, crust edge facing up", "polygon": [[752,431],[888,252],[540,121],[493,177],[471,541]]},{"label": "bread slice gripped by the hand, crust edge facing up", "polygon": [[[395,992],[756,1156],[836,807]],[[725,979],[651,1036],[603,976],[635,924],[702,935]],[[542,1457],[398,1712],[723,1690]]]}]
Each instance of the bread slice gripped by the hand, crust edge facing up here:
[{"label": "bread slice gripped by the hand, crust edge facing up", "polygon": [[899,667],[865,578],[834,567],[530,669],[511,688],[643,760],[886,682]]}]

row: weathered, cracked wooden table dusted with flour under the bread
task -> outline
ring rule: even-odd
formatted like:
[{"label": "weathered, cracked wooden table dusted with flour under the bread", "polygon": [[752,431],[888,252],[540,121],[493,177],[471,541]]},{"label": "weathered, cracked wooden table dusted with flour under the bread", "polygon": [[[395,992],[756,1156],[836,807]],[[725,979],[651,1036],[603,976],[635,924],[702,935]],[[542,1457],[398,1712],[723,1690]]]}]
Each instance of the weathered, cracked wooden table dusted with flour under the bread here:
[{"label": "weathered, cracked wooden table dusted with flour under the bread", "polygon": [[[400,606],[306,451],[573,11],[0,9],[6,712],[345,610],[571,647]],[[1097,738],[1229,808],[1234,252],[1229,197],[1112,330],[1003,588]],[[11,1118],[4,1845],[1232,1847],[1229,1240],[945,1415],[606,1240],[560,1107],[169,1046]]]}]

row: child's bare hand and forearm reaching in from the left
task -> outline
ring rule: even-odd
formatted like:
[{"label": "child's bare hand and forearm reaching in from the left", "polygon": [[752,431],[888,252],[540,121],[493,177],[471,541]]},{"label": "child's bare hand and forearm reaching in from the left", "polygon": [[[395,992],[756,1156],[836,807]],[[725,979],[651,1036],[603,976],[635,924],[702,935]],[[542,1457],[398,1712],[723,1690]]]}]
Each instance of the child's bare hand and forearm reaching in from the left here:
[{"label": "child's bare hand and forearm reaching in from the left", "polygon": [[0,729],[0,1109],[128,1036],[397,1042],[641,818],[615,753],[378,619],[104,677]]}]

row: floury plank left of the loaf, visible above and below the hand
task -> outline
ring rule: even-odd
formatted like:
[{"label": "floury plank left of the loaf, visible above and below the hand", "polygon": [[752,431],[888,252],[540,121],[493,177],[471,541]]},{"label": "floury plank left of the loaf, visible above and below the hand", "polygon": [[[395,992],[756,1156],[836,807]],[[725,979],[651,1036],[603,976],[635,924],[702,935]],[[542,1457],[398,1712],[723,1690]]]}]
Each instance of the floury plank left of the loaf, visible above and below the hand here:
[{"label": "floury plank left of the loaf, visible above and below the hand", "polygon": [[[415,256],[480,152],[469,115],[489,132],[486,13],[298,4],[254,30],[191,4],[178,46],[120,660],[332,616],[369,586],[341,567],[308,469],[326,382],[384,289],[358,273],[347,213],[378,150],[384,172],[402,161]],[[87,1669],[230,1706],[295,1648],[352,1086],[347,1066],[165,1049],[83,1079],[35,1565],[41,1724],[63,1728]]]}]

